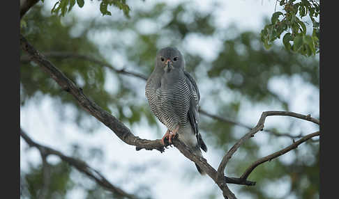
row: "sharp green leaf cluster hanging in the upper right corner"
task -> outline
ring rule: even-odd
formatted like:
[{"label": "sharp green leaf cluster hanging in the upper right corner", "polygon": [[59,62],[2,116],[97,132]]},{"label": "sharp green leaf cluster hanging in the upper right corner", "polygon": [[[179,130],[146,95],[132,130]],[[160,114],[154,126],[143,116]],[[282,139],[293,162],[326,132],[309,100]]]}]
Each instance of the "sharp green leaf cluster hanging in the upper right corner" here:
[{"label": "sharp green leaf cluster hanging in the upper right corner", "polygon": [[[277,0],[278,1],[278,0]],[[294,51],[304,56],[319,53],[319,1],[313,0],[280,0],[279,5],[283,12],[275,12],[271,23],[267,24],[261,32],[261,39],[266,49],[273,41],[280,38],[284,32],[283,44],[287,51]],[[304,17],[309,17],[312,22],[312,34],[307,34]],[[291,45],[292,42],[293,44]]]}]

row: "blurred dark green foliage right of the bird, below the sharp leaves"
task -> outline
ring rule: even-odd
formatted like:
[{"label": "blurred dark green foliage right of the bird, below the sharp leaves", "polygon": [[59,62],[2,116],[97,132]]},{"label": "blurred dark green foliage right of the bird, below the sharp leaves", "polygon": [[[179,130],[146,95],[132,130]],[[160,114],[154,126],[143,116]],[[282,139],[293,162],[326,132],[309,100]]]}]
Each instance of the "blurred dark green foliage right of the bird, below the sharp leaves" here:
[{"label": "blurred dark green foliage right of the bird, below the sharp leaves", "polygon": [[219,78],[221,74],[225,86],[254,101],[270,97],[280,100],[276,94],[271,93],[268,85],[271,78],[281,75],[291,77],[300,74],[303,79],[319,88],[319,63],[315,59],[306,65],[305,59],[300,56],[283,51],[276,45],[266,51],[262,46],[255,45],[257,41],[259,37],[252,32],[239,33],[233,40],[225,40],[224,50],[213,61],[209,77]]}]

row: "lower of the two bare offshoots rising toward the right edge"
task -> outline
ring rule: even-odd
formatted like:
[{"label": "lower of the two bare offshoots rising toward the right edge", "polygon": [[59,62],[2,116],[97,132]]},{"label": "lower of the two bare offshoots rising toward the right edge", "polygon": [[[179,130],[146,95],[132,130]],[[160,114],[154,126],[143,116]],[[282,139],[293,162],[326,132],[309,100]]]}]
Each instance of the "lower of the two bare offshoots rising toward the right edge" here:
[{"label": "lower of the two bare offshoots rising toward the right edge", "polygon": [[303,138],[301,138],[299,141],[294,142],[292,145],[289,145],[287,148],[283,148],[283,150],[274,152],[273,154],[269,154],[266,157],[262,157],[261,159],[258,159],[246,169],[246,171],[243,173],[243,175],[241,175],[240,178],[246,180],[248,178],[248,175],[250,175],[250,173],[260,164],[263,164],[266,161],[271,161],[271,159],[275,159],[276,157],[279,157],[280,155],[283,155],[289,152],[290,150],[294,150],[295,148],[298,147],[298,145],[300,145],[303,142],[306,142],[309,138],[312,138],[314,136],[319,136],[319,132],[315,132],[312,134],[308,134],[307,136],[303,136]]}]

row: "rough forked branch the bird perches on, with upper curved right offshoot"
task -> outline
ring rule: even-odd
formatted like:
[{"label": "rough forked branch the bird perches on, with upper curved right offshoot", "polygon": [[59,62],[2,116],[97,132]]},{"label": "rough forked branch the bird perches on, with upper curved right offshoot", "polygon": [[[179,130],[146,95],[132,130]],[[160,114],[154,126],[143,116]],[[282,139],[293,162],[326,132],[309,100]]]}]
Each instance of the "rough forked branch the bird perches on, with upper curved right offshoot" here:
[{"label": "rough forked branch the bird perches on, with upper curved right offshoot", "polygon": [[[116,136],[118,136],[123,142],[127,143],[128,145],[134,145],[137,150],[146,149],[146,150],[159,150],[160,152],[164,152],[165,147],[167,147],[168,142],[166,145],[162,145],[160,142],[160,139],[150,141],[146,139],[139,138],[137,136],[134,136],[128,127],[123,125],[122,122],[120,122],[118,119],[116,119],[114,116],[112,116],[110,113],[107,113],[107,111],[103,110],[100,106],[98,106],[95,102],[89,100],[86,95],[82,92],[82,89],[77,87],[73,81],[68,79],[60,70],[57,69],[57,67],[54,67],[50,61],[48,61],[45,56],[40,54],[33,46],[27,42],[27,40],[24,38],[23,35],[20,34],[20,45],[24,51],[27,52],[29,56],[29,60],[37,63],[42,70],[47,72],[47,74],[56,81],[59,86],[63,90],[66,90],[70,95],[73,95],[76,102],[80,104],[80,106],[88,111],[93,117],[97,118],[100,122],[103,122],[104,125],[109,127]],[[121,71],[121,73],[124,73]],[[135,76],[135,74],[127,72],[128,74],[132,74]],[[126,71],[125,71],[126,74]],[[143,76],[139,76],[139,78],[144,79]],[[255,185],[255,182],[250,182],[246,180],[244,177],[242,178],[236,178],[236,177],[225,177],[224,170],[227,162],[232,157],[234,152],[240,147],[240,145],[246,141],[251,136],[254,136],[255,133],[259,132],[259,130],[262,130],[264,128],[264,121],[267,116],[292,116],[295,118],[301,118],[303,120],[309,120],[311,122],[315,122],[319,125],[319,120],[312,118],[310,116],[303,116],[299,113],[293,113],[288,111],[266,111],[262,113],[262,116],[255,126],[255,128],[251,129],[248,134],[243,136],[230,150],[225,154],[225,157],[223,157],[223,160],[221,161],[218,171],[214,170],[212,166],[210,166],[206,159],[200,158],[195,156],[190,150],[184,145],[181,141],[178,139],[173,140],[173,144],[176,148],[179,149],[179,151],[188,159],[191,161],[194,161],[195,164],[197,164],[200,168],[202,168],[204,171],[206,171],[207,175],[211,177],[211,179],[218,184],[220,189],[223,191],[223,196],[225,198],[236,198],[234,196],[234,193],[228,189],[227,183],[232,184],[244,184],[244,185]]]}]

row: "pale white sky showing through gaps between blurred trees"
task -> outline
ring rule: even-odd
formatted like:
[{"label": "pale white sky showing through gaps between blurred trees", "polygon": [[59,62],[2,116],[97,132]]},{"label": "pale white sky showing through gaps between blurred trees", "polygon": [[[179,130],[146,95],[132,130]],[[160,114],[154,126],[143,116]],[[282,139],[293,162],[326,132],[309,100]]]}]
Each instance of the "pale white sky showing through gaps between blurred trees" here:
[{"label": "pale white sky showing through gaps between blurred trees", "polygon": [[[45,1],[45,7],[48,9],[52,8],[55,1]],[[153,5],[153,3],[158,1],[127,1],[131,5],[131,8],[144,8],[147,9],[148,5]],[[169,6],[176,6],[181,0],[175,1],[164,1],[167,2]],[[40,1],[41,3],[41,1]],[[218,3],[218,10],[211,10],[212,3]],[[93,8],[92,4],[97,4]],[[216,23],[220,27],[227,27],[229,24],[236,23],[238,28],[241,30],[259,30],[262,28],[262,19],[263,17],[270,17],[273,11],[275,10],[276,1],[273,0],[239,0],[239,1],[193,1],[190,3],[190,6],[195,6],[195,8],[202,10],[203,12],[213,12],[217,16]],[[101,13],[98,9],[98,2],[96,1],[86,1],[83,8],[74,8],[75,15],[82,17],[83,19],[88,19],[91,17],[101,17]],[[47,12],[48,13],[48,12]],[[86,13],[86,15],[84,15]],[[146,25],[147,26],[147,23]],[[151,25],[149,25],[151,26]],[[150,28],[151,29],[151,28]],[[95,38],[93,38],[95,40]],[[186,49],[195,54],[204,56],[206,60],[211,60],[215,58],[216,54],[211,51],[206,51],[206,49],[211,49],[211,47],[218,47],[218,40],[201,40],[199,37],[193,36],[188,41],[183,41]],[[123,65],[123,60],[121,61]],[[144,83],[144,82],[142,82]],[[305,85],[305,86],[300,86]],[[200,89],[200,88],[199,88]],[[201,88],[201,93],[203,95],[204,89]],[[306,85],[303,80],[299,77],[293,77],[292,80],[287,81],[283,77],[274,78],[271,80],[270,89],[273,92],[278,93],[278,95],[289,98],[294,96],[290,108],[296,113],[308,114],[311,110],[311,115],[319,115],[319,90],[312,86]],[[144,93],[142,91],[141,93]],[[142,97],[142,96],[141,96]],[[144,100],[146,100],[144,98]],[[150,184],[149,180],[154,180],[156,183],[152,183],[151,193],[153,198],[195,198],[202,193],[204,189],[213,189],[218,191],[219,197],[223,198],[221,191],[218,189],[216,184],[207,177],[199,176],[191,180],[190,177],[181,177],[186,176],[187,170],[190,170],[191,173],[196,172],[196,168],[192,161],[189,161],[183,155],[176,150],[175,148],[170,148],[166,150],[164,154],[152,150],[140,150],[136,151],[135,147],[126,145],[123,143],[115,134],[110,132],[110,129],[102,125],[96,134],[84,134],[81,132],[81,129],[73,123],[72,118],[75,116],[74,107],[65,106],[65,120],[59,118],[57,111],[54,107],[54,100],[51,97],[44,97],[42,101],[38,104],[34,102],[29,102],[21,107],[20,110],[20,125],[21,127],[33,138],[34,141],[38,141],[43,145],[50,146],[56,150],[63,152],[64,154],[70,154],[72,151],[71,144],[74,142],[80,143],[80,148],[88,148],[89,146],[102,148],[104,151],[102,158],[93,158],[89,162],[89,166],[99,170],[105,177],[107,177],[112,184],[119,184],[121,189],[125,191],[134,191],[138,184]],[[206,103],[208,106],[208,103]],[[311,108],[310,108],[311,107]],[[239,111],[239,118],[242,118],[243,121],[246,121],[247,125],[255,125],[257,120],[262,113],[262,111],[274,110],[277,107],[272,104],[271,106],[262,106],[257,105],[253,106],[252,104],[243,104],[241,110]],[[308,112],[307,112],[308,111]],[[201,116],[200,116],[201,117]],[[96,120],[95,118],[89,118],[88,120]],[[289,118],[276,117],[268,118],[266,121],[266,127],[283,127],[285,121],[289,121]],[[133,133],[136,136],[147,139],[156,139],[159,138],[156,134],[150,132],[155,129],[149,129],[142,125],[133,125],[130,127]],[[315,132],[317,127],[315,125],[310,125],[308,122],[301,122],[299,129],[296,129],[294,134],[299,134],[303,129],[304,132]],[[165,127],[162,126],[163,132],[165,132]],[[246,133],[246,129],[239,127],[239,132]],[[242,136],[243,134],[239,134]],[[267,136],[264,134],[257,134],[256,140],[258,142],[265,141]],[[289,144],[289,140],[282,140],[286,145]],[[303,146],[301,145],[300,148]],[[263,156],[268,154],[271,151],[269,146],[263,146],[259,153]],[[90,157],[91,154],[88,151],[84,150],[83,157]],[[207,161],[214,168],[218,167],[220,163],[220,156],[223,155],[219,150],[209,148],[208,153],[203,153]],[[284,161],[292,161],[294,157],[289,154],[281,157]],[[22,170],[27,170],[28,163],[31,164],[40,164],[40,154],[38,150],[31,148],[27,149],[27,144],[20,139],[20,168]],[[50,156],[48,161],[51,163],[58,162],[57,157]],[[132,164],[131,164],[132,163]],[[128,169],[131,166],[144,166],[146,170],[140,171],[140,175],[137,178],[131,176],[128,173]],[[164,174],[163,168],[166,168]],[[182,169],[185,168],[185,169]],[[188,169],[187,169],[188,168]],[[164,179],[163,175],[168,175]],[[176,177],[176,175],[178,177]],[[73,173],[73,178],[76,180],[79,177],[78,173]],[[84,184],[84,186],[91,186],[93,182],[91,180],[84,180],[86,177],[82,177],[82,180],[77,180],[78,183]],[[123,180],[125,179],[125,180]],[[283,183],[284,180],[280,180],[274,183],[271,189],[276,189],[272,194],[277,196],[284,196],[286,186],[288,184]],[[248,196],[243,195],[242,193],[237,193],[237,187],[234,185],[229,186],[238,198],[249,198]],[[175,191],[170,191],[169,188]],[[199,191],[201,190],[201,191]],[[84,191],[82,189],[74,189],[70,191],[67,198],[84,198]],[[293,196],[289,196],[287,199],[292,199]]]}]

